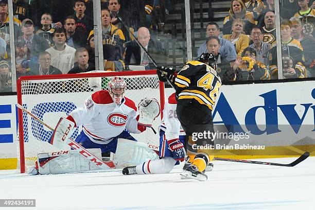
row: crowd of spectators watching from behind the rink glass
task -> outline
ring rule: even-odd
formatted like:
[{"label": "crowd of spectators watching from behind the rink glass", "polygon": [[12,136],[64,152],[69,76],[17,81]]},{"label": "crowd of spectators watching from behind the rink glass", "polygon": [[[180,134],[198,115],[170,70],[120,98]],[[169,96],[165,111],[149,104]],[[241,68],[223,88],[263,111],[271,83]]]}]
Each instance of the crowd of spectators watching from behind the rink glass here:
[{"label": "crowd of spectators watching from behind the rink glass", "polygon": [[[198,57],[213,53],[223,81],[277,79],[274,4],[274,0],[232,0],[222,27],[217,22],[206,24]],[[283,77],[315,77],[311,53],[315,3],[282,0],[279,6]],[[170,0],[101,0],[104,70],[128,71],[129,65],[154,68],[132,34],[156,63],[166,64],[167,51],[152,30],[170,10]],[[92,0],[13,0],[13,12],[15,46],[10,47],[8,1],[0,0],[0,92],[12,90],[10,61],[15,61],[16,78],[95,70]],[[10,58],[12,49],[15,59]]]}]

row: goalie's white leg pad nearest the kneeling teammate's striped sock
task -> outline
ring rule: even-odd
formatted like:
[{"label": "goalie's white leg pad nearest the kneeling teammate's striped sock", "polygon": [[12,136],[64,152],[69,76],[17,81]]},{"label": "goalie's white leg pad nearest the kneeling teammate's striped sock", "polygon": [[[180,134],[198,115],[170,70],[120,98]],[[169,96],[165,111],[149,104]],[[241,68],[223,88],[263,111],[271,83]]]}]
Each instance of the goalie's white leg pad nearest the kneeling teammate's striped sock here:
[{"label": "goalie's white leg pad nearest the kneeling teammate's striped sock", "polygon": [[142,164],[159,156],[148,145],[142,142],[119,138],[113,162],[116,167],[127,167]]}]

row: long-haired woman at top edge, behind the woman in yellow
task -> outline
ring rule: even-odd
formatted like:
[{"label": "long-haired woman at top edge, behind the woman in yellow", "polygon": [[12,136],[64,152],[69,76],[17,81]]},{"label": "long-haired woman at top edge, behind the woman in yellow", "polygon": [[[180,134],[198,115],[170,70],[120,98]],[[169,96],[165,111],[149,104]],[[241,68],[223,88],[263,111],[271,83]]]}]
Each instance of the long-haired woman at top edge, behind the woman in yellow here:
[{"label": "long-haired woman at top edge, behind the woman in yellow", "polygon": [[250,34],[251,28],[256,25],[253,12],[247,12],[242,0],[234,0],[231,2],[229,15],[223,21],[223,34],[231,34],[232,23],[236,19],[241,19],[244,22],[243,33]]}]

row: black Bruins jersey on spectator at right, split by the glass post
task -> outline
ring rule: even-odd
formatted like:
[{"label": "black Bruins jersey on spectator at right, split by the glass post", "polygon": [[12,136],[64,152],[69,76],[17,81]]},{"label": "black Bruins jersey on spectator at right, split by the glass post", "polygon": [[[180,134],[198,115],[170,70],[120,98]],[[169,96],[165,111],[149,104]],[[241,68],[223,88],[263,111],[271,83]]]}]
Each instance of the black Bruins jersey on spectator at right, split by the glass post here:
[{"label": "black Bruins jersey on spectator at right, split by the glass post", "polygon": [[[303,48],[300,42],[291,38],[288,43],[281,43],[282,47],[282,67],[284,78],[304,78],[306,77],[306,69],[304,66]],[[270,73],[273,78],[277,78],[277,49],[274,43],[271,46],[270,54]],[[289,68],[295,69],[295,75],[288,74]]]}]

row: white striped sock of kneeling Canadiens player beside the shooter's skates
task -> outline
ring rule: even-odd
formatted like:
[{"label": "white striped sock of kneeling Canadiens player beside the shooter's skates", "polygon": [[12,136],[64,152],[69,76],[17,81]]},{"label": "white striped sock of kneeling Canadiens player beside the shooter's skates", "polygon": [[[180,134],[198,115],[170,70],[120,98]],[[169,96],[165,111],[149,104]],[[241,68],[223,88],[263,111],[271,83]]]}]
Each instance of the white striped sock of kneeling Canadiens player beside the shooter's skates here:
[{"label": "white striped sock of kneeling Canadiens player beside the shooter's skates", "polygon": [[137,174],[150,174],[150,173],[169,173],[174,165],[176,160],[165,157],[158,160],[150,160],[143,164],[136,166]]}]

